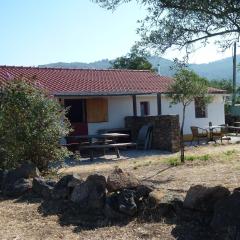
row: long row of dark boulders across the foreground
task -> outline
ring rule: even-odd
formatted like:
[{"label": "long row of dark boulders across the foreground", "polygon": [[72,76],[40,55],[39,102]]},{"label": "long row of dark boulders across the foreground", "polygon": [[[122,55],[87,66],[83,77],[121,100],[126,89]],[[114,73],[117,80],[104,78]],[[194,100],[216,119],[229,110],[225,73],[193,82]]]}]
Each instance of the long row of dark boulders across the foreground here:
[{"label": "long row of dark boulders across the foreground", "polygon": [[31,191],[46,203],[63,202],[77,213],[100,214],[111,220],[134,216],[145,221],[171,218],[198,221],[218,233],[240,234],[239,188],[231,193],[223,186],[196,185],[184,196],[156,190],[120,168],[107,178],[93,174],[84,180],[78,174],[71,174],[55,182],[41,177],[34,165],[24,164],[15,170],[0,171],[0,190],[6,197],[19,197]]}]

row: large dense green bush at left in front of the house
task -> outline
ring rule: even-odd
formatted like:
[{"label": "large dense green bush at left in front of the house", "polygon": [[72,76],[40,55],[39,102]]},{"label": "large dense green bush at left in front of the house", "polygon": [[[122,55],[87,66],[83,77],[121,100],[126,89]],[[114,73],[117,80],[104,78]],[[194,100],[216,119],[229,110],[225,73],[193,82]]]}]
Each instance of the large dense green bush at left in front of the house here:
[{"label": "large dense green bush at left in front of the house", "polygon": [[43,170],[68,155],[59,140],[70,124],[56,100],[24,79],[9,81],[0,92],[0,168],[33,162]]}]

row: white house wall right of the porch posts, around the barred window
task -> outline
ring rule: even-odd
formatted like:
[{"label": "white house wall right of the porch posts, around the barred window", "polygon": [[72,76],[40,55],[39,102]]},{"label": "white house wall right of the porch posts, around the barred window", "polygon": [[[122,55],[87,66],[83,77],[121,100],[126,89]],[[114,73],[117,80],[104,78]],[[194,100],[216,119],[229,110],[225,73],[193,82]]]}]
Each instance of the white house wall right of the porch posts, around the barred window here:
[{"label": "white house wall right of the porch posts, around the barred window", "polygon": [[[182,106],[180,104],[170,106],[169,99],[162,95],[162,114],[179,114],[181,122]],[[190,126],[206,128],[209,122],[212,122],[213,125],[225,123],[224,102],[222,95],[215,95],[213,101],[208,104],[207,118],[195,118],[194,103],[191,103],[186,108],[184,134],[191,133]]]}]

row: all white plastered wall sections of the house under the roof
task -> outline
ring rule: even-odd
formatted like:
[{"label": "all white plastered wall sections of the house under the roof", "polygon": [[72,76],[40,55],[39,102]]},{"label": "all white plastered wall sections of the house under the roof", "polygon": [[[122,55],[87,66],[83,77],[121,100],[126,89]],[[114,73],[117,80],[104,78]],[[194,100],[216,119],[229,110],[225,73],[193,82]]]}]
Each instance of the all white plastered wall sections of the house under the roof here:
[{"label": "all white plastered wall sections of the house under the roof", "polygon": [[[150,105],[150,115],[157,115],[157,96],[141,95],[137,96],[137,115],[140,116],[140,102],[148,101]],[[207,118],[195,118],[194,103],[186,109],[186,119],[184,134],[190,134],[190,126],[207,127],[211,121],[213,125],[223,124],[224,102],[222,95],[215,95],[214,100],[207,107]],[[162,115],[179,114],[182,120],[182,106],[180,104],[170,106],[170,101],[162,94]],[[133,115],[133,101],[131,96],[108,97],[108,122],[88,123],[88,133],[95,134],[99,129],[124,127],[126,116]]]}]

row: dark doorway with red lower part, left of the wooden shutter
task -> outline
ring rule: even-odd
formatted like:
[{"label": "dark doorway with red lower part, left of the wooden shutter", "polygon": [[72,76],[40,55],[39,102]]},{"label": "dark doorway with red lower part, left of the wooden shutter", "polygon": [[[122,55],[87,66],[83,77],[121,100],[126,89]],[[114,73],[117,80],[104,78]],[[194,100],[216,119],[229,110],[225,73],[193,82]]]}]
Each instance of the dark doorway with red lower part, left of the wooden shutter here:
[{"label": "dark doorway with red lower part, left of the wooden shutter", "polygon": [[71,135],[88,134],[85,99],[65,99],[64,106],[68,108],[67,117],[74,129]]}]

